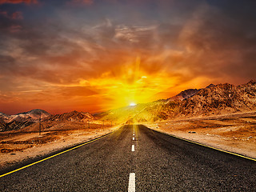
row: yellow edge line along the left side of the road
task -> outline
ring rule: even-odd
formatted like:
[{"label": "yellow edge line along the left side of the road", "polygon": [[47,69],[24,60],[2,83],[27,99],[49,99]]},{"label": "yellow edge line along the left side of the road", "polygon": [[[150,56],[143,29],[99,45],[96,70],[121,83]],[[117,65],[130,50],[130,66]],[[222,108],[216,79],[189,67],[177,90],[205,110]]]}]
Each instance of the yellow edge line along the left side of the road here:
[{"label": "yellow edge line along the left side of the road", "polygon": [[[112,133],[110,133],[110,134],[113,134],[113,133],[114,133],[114,131],[113,131]],[[14,172],[17,172],[18,170],[23,170],[23,169],[25,169],[26,167],[34,166],[35,164],[38,164],[39,162],[44,162],[44,161],[46,161],[46,160],[49,159],[49,158],[54,158],[54,157],[56,157],[56,156],[58,156],[58,155],[60,155],[60,154],[66,153],[66,152],[68,152],[68,151],[70,151],[70,150],[77,149],[77,148],[80,147],[80,146],[85,146],[86,144],[89,144],[90,142],[95,142],[95,141],[97,141],[98,139],[105,138],[106,136],[109,136],[110,134],[106,134],[106,135],[104,135],[104,136],[102,136],[102,137],[100,137],[100,138],[95,138],[94,140],[91,140],[91,141],[89,141],[89,142],[82,143],[82,144],[79,145],[79,146],[74,146],[73,148],[71,148],[71,149],[69,149],[69,150],[64,150],[64,151],[62,151],[62,152],[60,152],[60,153],[58,153],[58,154],[54,154],[54,155],[52,155],[52,156],[50,156],[50,157],[48,157],[48,158],[43,158],[43,159],[39,160],[38,162],[33,162],[33,163],[31,163],[31,164],[29,164],[29,165],[27,165],[27,166],[22,166],[21,168],[18,168],[17,170],[12,170],[12,171],[10,171],[10,172],[8,172],[8,173],[6,173],[6,174],[2,174],[2,175],[0,175],[0,178],[6,176],[6,175],[8,175],[8,174],[13,174]]]}]

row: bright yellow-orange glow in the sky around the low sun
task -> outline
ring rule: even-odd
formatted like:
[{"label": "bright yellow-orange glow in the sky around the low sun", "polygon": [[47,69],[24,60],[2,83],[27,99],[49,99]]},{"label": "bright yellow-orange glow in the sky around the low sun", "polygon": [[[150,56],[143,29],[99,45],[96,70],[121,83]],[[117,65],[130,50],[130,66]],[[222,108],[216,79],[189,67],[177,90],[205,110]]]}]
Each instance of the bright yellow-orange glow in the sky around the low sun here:
[{"label": "bright yellow-orange glow in the sky around the low sun", "polygon": [[101,96],[98,103],[101,102],[103,110],[152,102],[158,99],[158,93],[174,86],[177,81],[175,76],[170,77],[165,70],[150,72],[150,62],[141,62],[140,57],[128,60],[129,62],[106,71],[98,78],[88,80],[90,87],[94,87]]}]

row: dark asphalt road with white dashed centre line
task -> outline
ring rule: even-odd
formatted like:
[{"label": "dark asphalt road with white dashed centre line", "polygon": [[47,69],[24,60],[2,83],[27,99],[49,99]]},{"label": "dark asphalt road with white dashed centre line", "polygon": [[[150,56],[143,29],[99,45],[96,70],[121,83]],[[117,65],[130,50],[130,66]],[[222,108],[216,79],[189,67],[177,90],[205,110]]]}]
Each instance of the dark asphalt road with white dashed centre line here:
[{"label": "dark asphalt road with white dashed centre line", "polygon": [[256,162],[146,126],[123,126],[105,138],[0,178],[0,191],[127,191],[128,187],[256,191]]}]

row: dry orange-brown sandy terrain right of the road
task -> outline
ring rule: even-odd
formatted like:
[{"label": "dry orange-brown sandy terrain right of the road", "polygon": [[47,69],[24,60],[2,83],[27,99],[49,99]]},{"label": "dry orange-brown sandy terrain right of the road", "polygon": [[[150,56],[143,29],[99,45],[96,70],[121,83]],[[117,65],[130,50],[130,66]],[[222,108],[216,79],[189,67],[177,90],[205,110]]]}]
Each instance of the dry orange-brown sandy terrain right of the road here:
[{"label": "dry orange-brown sandy terrain right of the road", "polygon": [[256,158],[256,113],[145,124],[152,129]]}]

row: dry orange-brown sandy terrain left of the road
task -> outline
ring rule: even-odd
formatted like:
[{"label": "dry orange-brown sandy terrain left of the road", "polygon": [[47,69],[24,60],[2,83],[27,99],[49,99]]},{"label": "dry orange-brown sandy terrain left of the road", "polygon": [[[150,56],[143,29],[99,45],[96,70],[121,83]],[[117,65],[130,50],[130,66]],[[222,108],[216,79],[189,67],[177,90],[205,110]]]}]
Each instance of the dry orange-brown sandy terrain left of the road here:
[{"label": "dry orange-brown sandy terrain left of the road", "polygon": [[45,123],[41,135],[35,132],[38,131],[37,124],[18,131],[0,133],[0,168],[98,138],[121,126],[102,128],[102,125],[90,125],[89,129],[83,123],[62,122],[55,123],[55,126],[49,126],[47,129],[46,125]]}]

